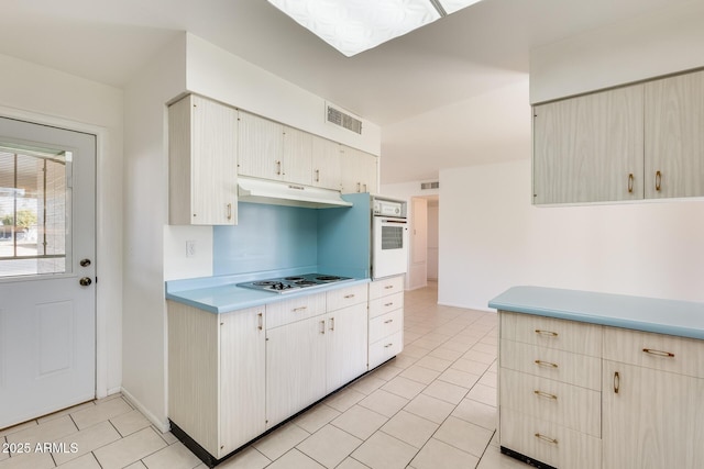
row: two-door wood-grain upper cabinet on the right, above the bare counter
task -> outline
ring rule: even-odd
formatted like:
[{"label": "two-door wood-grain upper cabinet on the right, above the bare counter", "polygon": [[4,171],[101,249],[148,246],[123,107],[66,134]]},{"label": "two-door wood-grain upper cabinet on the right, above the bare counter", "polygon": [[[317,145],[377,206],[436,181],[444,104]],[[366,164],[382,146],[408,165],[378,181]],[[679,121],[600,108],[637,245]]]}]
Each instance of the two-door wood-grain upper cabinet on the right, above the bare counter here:
[{"label": "two-door wood-grain upper cabinet on the right, above the bare counter", "polygon": [[534,203],[704,196],[704,71],[534,108]]}]

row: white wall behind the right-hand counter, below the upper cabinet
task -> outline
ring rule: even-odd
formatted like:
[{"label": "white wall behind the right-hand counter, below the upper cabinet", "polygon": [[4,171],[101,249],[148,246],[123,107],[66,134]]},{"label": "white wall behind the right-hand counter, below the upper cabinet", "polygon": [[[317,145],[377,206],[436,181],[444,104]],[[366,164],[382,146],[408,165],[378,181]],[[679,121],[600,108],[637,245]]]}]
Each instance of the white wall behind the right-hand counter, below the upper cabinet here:
[{"label": "white wall behind the right-hand counter, below the upper cabinet", "polygon": [[509,287],[704,301],[704,200],[536,208],[528,159],[440,171],[439,302]]}]

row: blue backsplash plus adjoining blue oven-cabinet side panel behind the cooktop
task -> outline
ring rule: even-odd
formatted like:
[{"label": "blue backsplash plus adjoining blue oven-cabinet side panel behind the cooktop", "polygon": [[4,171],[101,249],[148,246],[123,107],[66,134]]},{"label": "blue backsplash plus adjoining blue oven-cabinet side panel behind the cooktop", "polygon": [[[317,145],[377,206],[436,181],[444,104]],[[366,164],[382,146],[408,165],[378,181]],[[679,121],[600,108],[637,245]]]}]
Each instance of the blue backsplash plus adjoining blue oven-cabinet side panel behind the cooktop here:
[{"label": "blue backsplash plus adjoining blue oven-cabinet side panel behind the cooktop", "polygon": [[238,225],[213,226],[215,276],[317,269],[370,277],[370,194],[345,194],[351,208],[302,209],[240,202]]}]

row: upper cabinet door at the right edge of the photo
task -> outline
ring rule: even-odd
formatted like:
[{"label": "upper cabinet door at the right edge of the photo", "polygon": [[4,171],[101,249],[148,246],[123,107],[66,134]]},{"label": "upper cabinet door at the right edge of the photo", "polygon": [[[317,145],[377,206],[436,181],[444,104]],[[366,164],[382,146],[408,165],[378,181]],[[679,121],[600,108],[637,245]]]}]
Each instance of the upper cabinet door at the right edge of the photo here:
[{"label": "upper cabinet door at the right edge of the photo", "polygon": [[704,196],[704,71],[646,83],[646,198]]}]

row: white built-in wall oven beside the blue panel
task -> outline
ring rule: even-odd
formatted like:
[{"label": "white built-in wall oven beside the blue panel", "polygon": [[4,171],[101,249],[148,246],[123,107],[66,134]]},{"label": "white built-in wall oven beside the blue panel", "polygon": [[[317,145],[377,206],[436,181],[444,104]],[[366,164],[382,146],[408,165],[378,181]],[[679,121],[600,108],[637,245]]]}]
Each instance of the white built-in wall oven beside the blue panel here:
[{"label": "white built-in wall oven beside the blue panel", "polygon": [[406,273],[408,220],[406,201],[372,199],[372,278]]}]

